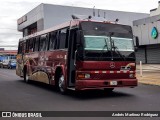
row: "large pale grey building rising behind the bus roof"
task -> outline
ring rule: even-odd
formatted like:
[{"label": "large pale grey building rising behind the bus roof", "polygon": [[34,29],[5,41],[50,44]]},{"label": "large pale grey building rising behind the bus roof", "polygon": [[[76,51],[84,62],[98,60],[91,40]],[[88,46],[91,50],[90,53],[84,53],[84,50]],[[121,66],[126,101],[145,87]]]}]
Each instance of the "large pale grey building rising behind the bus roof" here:
[{"label": "large pale grey building rising behind the bus roof", "polygon": [[103,17],[107,21],[119,19],[120,24],[132,25],[133,20],[148,17],[145,13],[122,12],[112,10],[98,10],[93,8],[82,8],[73,6],[61,6],[51,4],[40,4],[27,14],[18,19],[18,31],[23,36],[30,35],[41,30],[51,28],[55,25],[70,21],[72,14]]}]

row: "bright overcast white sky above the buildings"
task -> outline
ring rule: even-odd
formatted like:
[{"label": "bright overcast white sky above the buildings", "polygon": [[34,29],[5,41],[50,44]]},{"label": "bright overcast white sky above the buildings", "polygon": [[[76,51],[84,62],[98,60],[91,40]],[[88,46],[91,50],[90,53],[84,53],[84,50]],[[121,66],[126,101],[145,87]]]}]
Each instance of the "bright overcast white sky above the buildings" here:
[{"label": "bright overcast white sky above the buildings", "polygon": [[0,48],[15,50],[22,33],[17,31],[17,19],[41,3],[87,7],[106,10],[149,13],[159,0],[1,0]]}]

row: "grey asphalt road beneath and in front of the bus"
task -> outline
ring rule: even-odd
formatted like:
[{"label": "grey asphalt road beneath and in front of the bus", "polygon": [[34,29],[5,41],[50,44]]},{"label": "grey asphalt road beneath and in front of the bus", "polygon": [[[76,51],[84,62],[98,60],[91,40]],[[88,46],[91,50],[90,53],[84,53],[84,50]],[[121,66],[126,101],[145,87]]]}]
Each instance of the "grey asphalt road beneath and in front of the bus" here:
[{"label": "grey asphalt road beneath and in front of the bus", "polygon": [[[0,69],[0,111],[160,111],[159,99],[160,86],[141,83],[135,88],[116,88],[113,93],[94,90],[78,93],[69,91],[67,95],[61,95],[52,86],[38,82],[26,84],[22,78],[15,75],[15,70]],[[107,120],[109,118],[41,119]],[[137,118],[122,117],[110,119],[137,120]],[[149,119],[140,118],[140,120]],[[160,120],[160,118],[152,118],[152,120]]]}]

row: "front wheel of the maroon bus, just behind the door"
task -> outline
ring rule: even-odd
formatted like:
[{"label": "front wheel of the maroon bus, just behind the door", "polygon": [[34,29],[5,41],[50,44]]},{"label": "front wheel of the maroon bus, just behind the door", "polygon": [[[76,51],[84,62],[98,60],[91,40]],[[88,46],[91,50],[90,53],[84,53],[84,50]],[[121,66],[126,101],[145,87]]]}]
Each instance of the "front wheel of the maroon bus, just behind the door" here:
[{"label": "front wheel of the maroon bus, just behind the door", "polygon": [[64,75],[60,74],[59,79],[58,79],[58,89],[62,94],[67,93],[66,85],[65,85],[65,80],[64,80]]}]

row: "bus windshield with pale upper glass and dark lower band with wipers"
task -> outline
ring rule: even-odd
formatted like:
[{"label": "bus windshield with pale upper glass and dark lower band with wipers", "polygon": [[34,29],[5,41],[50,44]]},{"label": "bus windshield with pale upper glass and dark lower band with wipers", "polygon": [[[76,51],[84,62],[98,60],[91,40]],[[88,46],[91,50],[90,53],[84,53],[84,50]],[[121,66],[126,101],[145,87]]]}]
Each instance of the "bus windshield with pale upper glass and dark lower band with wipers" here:
[{"label": "bus windshield with pale upper glass and dark lower band with wipers", "polygon": [[[109,36],[101,31],[84,31],[84,60],[135,60],[133,39],[123,35]],[[114,33],[116,35],[116,33]]]}]

